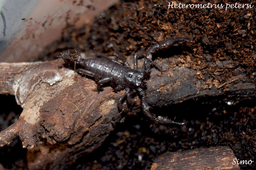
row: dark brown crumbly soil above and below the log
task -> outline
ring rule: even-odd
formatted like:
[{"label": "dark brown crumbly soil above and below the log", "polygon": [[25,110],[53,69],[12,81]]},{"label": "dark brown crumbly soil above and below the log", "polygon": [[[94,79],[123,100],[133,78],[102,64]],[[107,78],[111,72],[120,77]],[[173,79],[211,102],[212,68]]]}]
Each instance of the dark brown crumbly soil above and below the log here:
[{"label": "dark brown crumbly soil above and below the log", "polygon": [[[236,1],[223,0],[216,3],[234,4]],[[216,80],[213,85],[230,81],[241,70],[246,72],[245,82],[256,83],[256,1],[239,3],[252,3],[254,7],[228,10],[168,9],[167,1],[163,0],[122,1],[95,18],[91,27],[74,30],[72,25],[68,25],[64,31],[70,36],[51,44],[49,48],[55,52],[42,54],[47,57],[39,56],[39,60],[53,59],[59,56],[59,52],[69,48],[108,55],[119,51],[128,58],[134,52],[167,37],[186,36],[192,38],[191,43],[159,52],[157,57],[170,57],[171,67],[203,70],[198,79],[213,78]],[[190,61],[187,60],[188,56]],[[227,64],[222,65],[218,61],[226,61]],[[182,128],[151,126],[143,115],[126,117],[125,122],[116,125],[100,148],[81,157],[67,169],[149,169],[154,158],[166,151],[219,145],[228,145],[240,160],[256,161],[255,101],[255,98],[240,101],[239,95],[236,99],[229,99],[226,95],[208,101],[199,99],[152,110],[159,113],[171,110],[171,118],[188,121]],[[228,105],[228,102],[236,104]],[[1,152],[7,155],[12,153],[4,149]],[[138,159],[140,156],[142,160]],[[7,163],[1,161],[6,168],[23,167],[17,161],[12,163],[16,165],[7,166]],[[240,167],[255,169],[256,164]]]}]

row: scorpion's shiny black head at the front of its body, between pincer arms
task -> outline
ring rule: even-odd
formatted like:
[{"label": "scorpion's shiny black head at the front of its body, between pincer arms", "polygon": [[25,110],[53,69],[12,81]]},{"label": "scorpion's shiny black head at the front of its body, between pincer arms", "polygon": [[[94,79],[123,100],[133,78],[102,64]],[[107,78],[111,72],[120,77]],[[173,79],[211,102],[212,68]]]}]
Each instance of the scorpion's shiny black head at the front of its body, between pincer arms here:
[{"label": "scorpion's shiny black head at the front of its body, between pincer arms", "polygon": [[144,74],[137,70],[124,71],[122,78],[126,87],[145,87],[147,83],[142,81]]}]

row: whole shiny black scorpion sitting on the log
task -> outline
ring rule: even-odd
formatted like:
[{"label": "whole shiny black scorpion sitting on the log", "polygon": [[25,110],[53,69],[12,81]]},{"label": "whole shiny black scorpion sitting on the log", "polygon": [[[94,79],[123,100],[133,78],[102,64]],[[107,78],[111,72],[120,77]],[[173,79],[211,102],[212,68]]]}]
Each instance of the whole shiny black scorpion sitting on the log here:
[{"label": "whole shiny black scorpion sitting on the log", "polygon": [[142,56],[142,52],[136,52],[134,54],[134,68],[130,68],[130,65],[117,53],[114,52],[114,56],[118,57],[122,63],[113,60],[107,56],[99,54],[98,57],[82,59],[81,56],[71,54],[69,51],[62,54],[62,58],[65,62],[71,62],[76,65],[80,65],[82,68],[76,69],[76,72],[85,74],[95,78],[97,83],[98,93],[102,91],[102,84],[110,81],[114,91],[120,91],[125,89],[124,95],[118,100],[118,109],[123,110],[122,102],[127,100],[128,104],[131,104],[131,97],[135,93],[139,93],[141,99],[141,107],[143,113],[156,123],[162,125],[179,125],[182,126],[186,122],[174,122],[165,116],[156,116],[149,111],[149,105],[147,103],[146,87],[147,79],[151,73],[151,65],[162,70],[158,64],[152,61],[152,54],[158,50],[169,48],[176,42],[189,41],[188,37],[180,38],[168,38],[160,41],[148,49],[146,58],[142,66],[142,71],[138,71],[138,57]]}]

